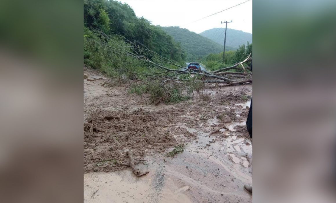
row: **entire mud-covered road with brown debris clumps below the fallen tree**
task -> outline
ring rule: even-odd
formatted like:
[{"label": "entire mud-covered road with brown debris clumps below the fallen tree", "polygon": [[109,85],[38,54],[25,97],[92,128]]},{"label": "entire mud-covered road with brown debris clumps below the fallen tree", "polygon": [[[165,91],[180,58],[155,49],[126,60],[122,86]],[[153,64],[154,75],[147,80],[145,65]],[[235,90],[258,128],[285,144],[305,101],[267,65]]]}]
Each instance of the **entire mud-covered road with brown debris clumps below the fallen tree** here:
[{"label": "entire mud-covered road with brown debris clumps below the fallen tree", "polygon": [[[243,189],[252,183],[251,84],[154,106],[129,84],[101,87],[107,79],[84,68],[84,202],[252,202]],[[127,150],[148,174],[124,165]]]}]

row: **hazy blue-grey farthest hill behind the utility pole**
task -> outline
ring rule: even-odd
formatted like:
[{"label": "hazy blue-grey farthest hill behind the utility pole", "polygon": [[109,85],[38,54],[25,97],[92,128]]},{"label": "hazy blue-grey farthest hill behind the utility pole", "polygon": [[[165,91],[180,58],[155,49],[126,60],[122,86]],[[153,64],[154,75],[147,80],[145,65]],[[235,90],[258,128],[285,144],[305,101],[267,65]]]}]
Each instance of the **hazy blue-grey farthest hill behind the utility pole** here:
[{"label": "hazy blue-grey farthest hill behind the utility pole", "polygon": [[[224,41],[224,33],[225,28],[213,28],[201,32],[200,35],[221,44]],[[251,33],[229,28],[226,30],[226,46],[232,46],[234,48],[238,48],[238,46],[246,44],[247,41],[252,43]]]}]

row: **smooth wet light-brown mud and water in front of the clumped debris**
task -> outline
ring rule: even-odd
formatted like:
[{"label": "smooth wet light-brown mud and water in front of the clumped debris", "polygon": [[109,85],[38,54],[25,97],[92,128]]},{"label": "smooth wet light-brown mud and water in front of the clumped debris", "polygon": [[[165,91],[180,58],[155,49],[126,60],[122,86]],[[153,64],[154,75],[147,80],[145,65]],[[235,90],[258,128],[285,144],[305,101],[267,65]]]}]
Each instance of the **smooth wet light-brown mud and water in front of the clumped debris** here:
[{"label": "smooth wet light-brown mud and water in front of the clumped debris", "polygon": [[182,154],[145,163],[150,172],[140,178],[131,170],[84,174],[84,202],[252,202],[243,190],[244,184],[252,182],[246,158],[252,146],[237,136],[209,137],[209,133],[180,126],[197,134]]}]

